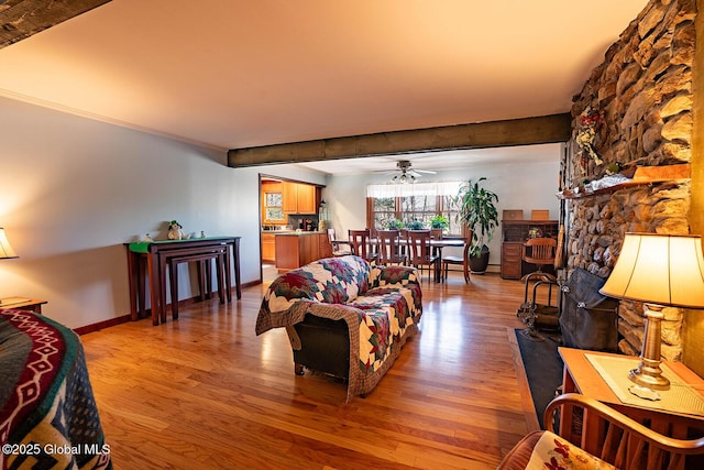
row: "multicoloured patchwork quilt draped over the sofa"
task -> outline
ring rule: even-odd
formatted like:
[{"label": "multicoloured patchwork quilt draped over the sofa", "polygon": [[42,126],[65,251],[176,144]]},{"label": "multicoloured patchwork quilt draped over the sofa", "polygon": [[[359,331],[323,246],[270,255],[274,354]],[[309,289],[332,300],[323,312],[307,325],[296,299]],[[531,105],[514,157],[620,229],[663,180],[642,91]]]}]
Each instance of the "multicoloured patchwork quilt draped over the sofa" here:
[{"label": "multicoloured patchwork quilt draped over the sofa", "polygon": [[369,393],[417,332],[422,314],[418,272],[372,266],[354,255],[318,260],[282,274],[270,285],[256,334],[292,327],[306,314],[346,323],[348,398]]}]

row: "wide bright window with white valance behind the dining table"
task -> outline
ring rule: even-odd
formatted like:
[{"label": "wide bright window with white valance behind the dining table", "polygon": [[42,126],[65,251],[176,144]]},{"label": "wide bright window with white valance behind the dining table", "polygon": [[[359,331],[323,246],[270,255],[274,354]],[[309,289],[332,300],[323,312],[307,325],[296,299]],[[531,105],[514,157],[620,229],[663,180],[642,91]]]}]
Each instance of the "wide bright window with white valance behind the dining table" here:
[{"label": "wide bright window with white valance behind the dining table", "polygon": [[430,228],[430,219],[440,215],[450,222],[448,234],[462,236],[462,225],[457,221],[459,208],[454,204],[461,185],[462,182],[369,185],[367,223],[383,229],[389,221],[400,220],[404,227],[415,221]]}]

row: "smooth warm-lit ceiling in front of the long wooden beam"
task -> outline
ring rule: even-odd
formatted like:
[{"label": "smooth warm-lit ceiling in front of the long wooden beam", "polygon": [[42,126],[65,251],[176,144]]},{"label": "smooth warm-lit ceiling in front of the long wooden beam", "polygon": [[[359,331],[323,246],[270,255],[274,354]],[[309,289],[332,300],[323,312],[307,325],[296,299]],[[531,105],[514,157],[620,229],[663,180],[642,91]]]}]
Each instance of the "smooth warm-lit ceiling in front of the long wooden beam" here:
[{"label": "smooth warm-lit ceiling in front of the long wooden beam", "polygon": [[112,0],[0,50],[0,95],[220,150],[546,116],[647,3]]}]

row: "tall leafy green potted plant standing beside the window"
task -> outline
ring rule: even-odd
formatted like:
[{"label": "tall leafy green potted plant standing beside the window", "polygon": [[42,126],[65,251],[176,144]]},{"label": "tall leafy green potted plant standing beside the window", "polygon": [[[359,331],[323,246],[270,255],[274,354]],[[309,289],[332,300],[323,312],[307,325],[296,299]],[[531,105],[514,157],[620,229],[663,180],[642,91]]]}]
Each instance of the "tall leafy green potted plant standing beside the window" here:
[{"label": "tall leafy green potted plant standing beside the window", "polygon": [[470,247],[470,269],[473,273],[486,272],[488,266],[488,243],[494,236],[494,229],[498,226],[498,211],[496,203],[498,196],[496,193],[484,189],[480,184],[485,177],[479,178],[472,183],[468,181],[460,187],[457,196],[457,204],[460,207],[458,220],[466,223],[472,230],[472,240]]}]

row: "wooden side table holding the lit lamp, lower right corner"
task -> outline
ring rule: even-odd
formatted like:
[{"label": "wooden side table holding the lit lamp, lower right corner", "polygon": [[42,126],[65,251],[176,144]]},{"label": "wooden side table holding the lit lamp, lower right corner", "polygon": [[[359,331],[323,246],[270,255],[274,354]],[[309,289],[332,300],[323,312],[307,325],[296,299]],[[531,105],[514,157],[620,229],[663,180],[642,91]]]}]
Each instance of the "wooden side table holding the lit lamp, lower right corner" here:
[{"label": "wooden side table holding the lit lamp, lower right corner", "polygon": [[[629,358],[628,356],[572,348],[559,348],[558,350],[564,362],[563,393],[576,392],[598,400],[651,429],[670,437],[686,439],[691,430],[704,436],[704,415],[684,414],[675,409],[654,409],[623,403],[586,357],[586,354],[601,354]],[[682,362],[663,361],[663,364],[682,379],[682,382],[691,385],[697,392],[704,393],[704,380]],[[588,416],[583,418],[586,420]],[[571,423],[572,409],[564,407],[560,416],[560,433],[565,434],[561,435],[572,436],[572,429],[566,428]],[[692,438],[692,436],[689,437]],[[594,446],[591,446],[592,442],[597,441],[594,436],[572,436],[570,440],[580,445],[584,450],[598,455],[598,449],[594,449]]]}]

